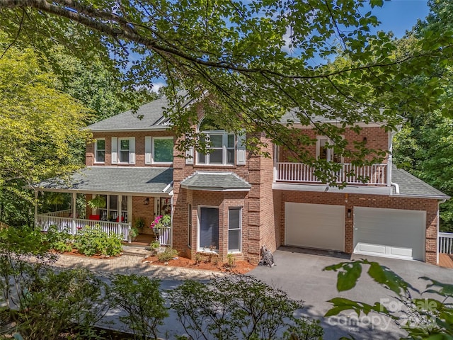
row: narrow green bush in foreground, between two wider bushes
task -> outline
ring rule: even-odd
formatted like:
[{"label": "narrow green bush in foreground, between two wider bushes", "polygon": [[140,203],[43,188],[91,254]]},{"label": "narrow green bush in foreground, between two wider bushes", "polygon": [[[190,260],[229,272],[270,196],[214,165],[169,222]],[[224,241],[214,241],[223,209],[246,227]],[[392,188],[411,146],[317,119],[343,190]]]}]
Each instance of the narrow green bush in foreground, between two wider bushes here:
[{"label": "narrow green bush in foreground, between two wider bushes", "polygon": [[165,300],[159,291],[160,280],[137,275],[113,277],[110,296],[125,316],[120,320],[127,324],[139,339],[157,339],[157,327],[168,317]]}]

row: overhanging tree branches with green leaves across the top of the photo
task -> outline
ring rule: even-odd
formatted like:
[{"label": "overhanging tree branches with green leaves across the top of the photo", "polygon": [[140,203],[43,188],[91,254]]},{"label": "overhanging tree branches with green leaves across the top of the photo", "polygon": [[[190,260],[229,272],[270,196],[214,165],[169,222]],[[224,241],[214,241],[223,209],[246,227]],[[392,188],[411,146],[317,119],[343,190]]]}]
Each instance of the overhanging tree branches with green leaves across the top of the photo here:
[{"label": "overhanging tree branches with green leaves across the top of the photo", "polygon": [[[245,128],[254,136],[247,139],[252,151],[266,143],[259,138],[266,135],[291,149],[298,161],[332,169],[306,152],[314,140],[291,122],[275,122],[293,110],[302,125],[314,124],[331,137],[337,154],[363,164],[372,150],[347,145],[340,137],[346,126],[358,131],[359,121],[379,121],[394,129],[400,123],[396,113],[435,108],[445,79],[433,78],[423,89],[401,80],[431,74],[433,64],[453,60],[452,35],[445,32],[430,31],[410,52],[393,53],[389,35],[369,33],[378,21],[371,12],[360,13],[366,3],[0,0],[0,15],[2,28],[17,41],[47,52],[58,41],[75,55],[100,58],[124,72],[125,87],[164,79],[166,95],[176,104],[174,130],[178,137],[191,137],[181,140],[180,149],[200,145],[193,130],[195,108],[178,110],[183,101],[178,90],[185,89],[217,125],[234,132]],[[383,3],[369,0],[372,7]],[[342,67],[310,66],[339,50],[348,55]],[[319,123],[314,115],[342,123]]]}]

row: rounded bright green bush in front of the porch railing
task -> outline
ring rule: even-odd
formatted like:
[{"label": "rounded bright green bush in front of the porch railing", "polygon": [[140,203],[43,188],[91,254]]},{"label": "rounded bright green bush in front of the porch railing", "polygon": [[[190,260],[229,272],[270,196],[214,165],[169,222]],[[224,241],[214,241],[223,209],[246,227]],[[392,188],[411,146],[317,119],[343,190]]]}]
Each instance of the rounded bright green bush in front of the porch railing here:
[{"label": "rounded bright green bush in front of the porch railing", "polygon": [[121,253],[122,243],[117,234],[109,235],[99,225],[94,227],[87,225],[77,232],[74,248],[86,256],[93,256],[94,254],[115,256]]}]

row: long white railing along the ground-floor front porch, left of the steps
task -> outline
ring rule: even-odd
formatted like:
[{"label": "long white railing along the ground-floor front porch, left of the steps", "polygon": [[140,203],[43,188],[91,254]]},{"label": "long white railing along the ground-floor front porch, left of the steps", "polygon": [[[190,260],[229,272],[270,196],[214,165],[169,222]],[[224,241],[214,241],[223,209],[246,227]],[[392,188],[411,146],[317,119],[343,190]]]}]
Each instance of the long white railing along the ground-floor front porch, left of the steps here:
[{"label": "long white railing along the ground-floor front porch, left of the steps", "polygon": [[78,229],[89,225],[94,227],[95,225],[101,226],[104,232],[108,234],[120,235],[123,241],[130,242],[129,232],[131,225],[129,223],[118,223],[98,220],[83,220],[81,218],[69,218],[59,217],[52,215],[38,215],[35,220],[36,227],[40,228],[43,232],[47,232],[51,225],[57,226],[59,232],[69,232],[70,234],[76,234]]}]

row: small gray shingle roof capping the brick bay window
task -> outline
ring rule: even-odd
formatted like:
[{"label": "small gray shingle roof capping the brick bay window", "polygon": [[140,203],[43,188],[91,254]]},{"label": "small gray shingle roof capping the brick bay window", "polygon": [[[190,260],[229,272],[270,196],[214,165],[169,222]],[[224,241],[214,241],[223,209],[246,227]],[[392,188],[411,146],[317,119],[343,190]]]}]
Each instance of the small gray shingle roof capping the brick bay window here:
[{"label": "small gray shingle roof capping the brick bay window", "polygon": [[209,191],[249,191],[251,185],[232,172],[195,172],[181,187]]}]

